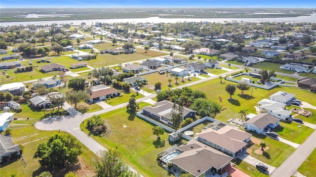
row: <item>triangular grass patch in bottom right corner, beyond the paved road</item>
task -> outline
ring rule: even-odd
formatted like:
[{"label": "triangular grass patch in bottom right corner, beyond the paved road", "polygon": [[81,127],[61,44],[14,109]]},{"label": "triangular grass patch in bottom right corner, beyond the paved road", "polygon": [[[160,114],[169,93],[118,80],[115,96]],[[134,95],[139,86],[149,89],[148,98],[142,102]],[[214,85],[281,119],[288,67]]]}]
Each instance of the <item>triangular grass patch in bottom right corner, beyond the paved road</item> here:
[{"label": "triangular grass patch in bottom right corner, beyond the paved road", "polygon": [[[316,177],[316,149],[307,157],[302,165],[297,169],[302,175]],[[309,172],[309,174],[307,174]]]}]

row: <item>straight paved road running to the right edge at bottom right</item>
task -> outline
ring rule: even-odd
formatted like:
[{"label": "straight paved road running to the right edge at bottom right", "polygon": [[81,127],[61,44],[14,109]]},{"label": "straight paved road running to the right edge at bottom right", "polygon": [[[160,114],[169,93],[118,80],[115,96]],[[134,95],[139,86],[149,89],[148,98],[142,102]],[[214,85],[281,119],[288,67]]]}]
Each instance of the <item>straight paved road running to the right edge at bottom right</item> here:
[{"label": "straight paved road running to the right edge at bottom right", "polygon": [[297,169],[305,161],[305,159],[316,148],[316,131],[290,155],[276,170],[271,174],[271,177],[290,177],[294,175]]}]

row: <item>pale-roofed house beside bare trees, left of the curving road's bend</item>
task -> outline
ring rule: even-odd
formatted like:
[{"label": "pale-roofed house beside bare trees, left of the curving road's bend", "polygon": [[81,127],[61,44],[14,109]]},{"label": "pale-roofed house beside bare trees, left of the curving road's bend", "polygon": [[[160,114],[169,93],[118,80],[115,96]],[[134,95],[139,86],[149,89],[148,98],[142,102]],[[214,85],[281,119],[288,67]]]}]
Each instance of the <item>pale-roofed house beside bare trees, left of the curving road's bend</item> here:
[{"label": "pale-roofed house beside bare trees, left of the curving road's bend", "polygon": [[52,105],[51,100],[49,99],[49,97],[54,96],[54,97],[61,97],[61,96],[65,96],[63,93],[61,92],[50,92],[48,94],[44,94],[44,95],[38,95],[35,96],[31,99],[29,99],[31,105],[33,105],[36,108],[46,108]]}]

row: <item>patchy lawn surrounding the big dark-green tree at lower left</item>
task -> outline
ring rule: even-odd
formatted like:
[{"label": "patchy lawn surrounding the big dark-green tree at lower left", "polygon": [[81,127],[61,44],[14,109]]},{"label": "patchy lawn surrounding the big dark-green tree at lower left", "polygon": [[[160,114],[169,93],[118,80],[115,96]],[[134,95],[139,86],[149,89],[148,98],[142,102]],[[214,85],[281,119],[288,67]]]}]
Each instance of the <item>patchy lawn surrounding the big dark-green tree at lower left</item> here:
[{"label": "patchy lawn surrounding the big dark-green tree at lower left", "polygon": [[[34,177],[39,175],[41,172],[44,172],[44,168],[40,168],[39,158],[34,157],[34,153],[40,143],[46,142],[48,137],[58,133],[58,131],[43,131],[38,130],[35,126],[32,126],[32,121],[37,122],[35,119],[29,120],[13,120],[10,123],[12,125],[13,133],[12,140],[14,144],[22,145],[23,156],[27,162],[27,165],[23,165],[21,160],[13,159],[7,163],[1,163],[0,176],[1,177],[10,177],[11,175],[16,175],[17,177]],[[14,124],[27,124],[27,125],[14,125]],[[1,134],[3,134],[2,132]],[[60,132],[64,134],[63,131]],[[33,142],[32,142],[33,141]],[[24,145],[23,145],[24,144]],[[93,161],[98,158],[92,151],[82,145],[83,153],[79,156],[80,168],[74,170],[74,172],[84,177],[87,174],[94,172],[92,167]],[[56,170],[52,172],[54,177],[64,176],[69,172],[70,169],[65,171]],[[76,172],[77,171],[77,172]]]}]

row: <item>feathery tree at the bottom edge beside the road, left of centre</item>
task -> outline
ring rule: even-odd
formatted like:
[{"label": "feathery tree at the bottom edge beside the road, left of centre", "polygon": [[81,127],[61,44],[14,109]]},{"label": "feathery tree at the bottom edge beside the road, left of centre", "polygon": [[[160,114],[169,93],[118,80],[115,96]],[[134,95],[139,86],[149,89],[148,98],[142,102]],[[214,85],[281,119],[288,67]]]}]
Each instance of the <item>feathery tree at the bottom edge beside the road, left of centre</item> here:
[{"label": "feathery tree at the bottom edge beside the road, left of centre", "polygon": [[101,152],[101,160],[95,163],[96,177],[124,177],[129,173],[128,166],[120,159],[121,154],[117,149]]}]

